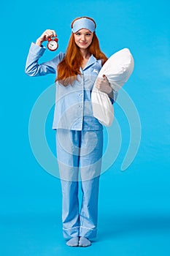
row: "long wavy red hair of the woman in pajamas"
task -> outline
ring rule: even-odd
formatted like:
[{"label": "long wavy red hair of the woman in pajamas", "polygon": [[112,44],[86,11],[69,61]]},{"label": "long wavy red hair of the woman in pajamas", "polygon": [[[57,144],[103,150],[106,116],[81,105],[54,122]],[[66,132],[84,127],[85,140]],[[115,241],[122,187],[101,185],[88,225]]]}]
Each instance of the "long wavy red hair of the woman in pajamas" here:
[{"label": "long wavy red hair of the woman in pajamas", "polygon": [[[88,18],[88,17],[84,16],[81,18]],[[76,18],[72,21],[72,27],[73,27],[74,21],[79,19],[80,18]],[[93,20],[92,18],[88,18],[88,19]],[[94,20],[93,20],[93,23],[95,23]],[[96,27],[96,23],[95,23],[95,27]],[[107,56],[105,56],[105,54],[101,52],[98,38],[95,32],[93,32],[93,39],[88,50],[90,54],[93,54],[93,56],[96,57],[96,59],[102,60],[102,65],[107,61]],[[74,40],[74,33],[72,32],[72,35],[69,39],[69,45],[66,49],[66,54],[63,60],[58,64],[57,77],[55,79],[55,82],[58,81],[63,86],[68,86],[69,84],[74,83],[74,80],[77,80],[77,75],[81,75],[80,67],[82,64],[82,60],[83,58],[80,53],[80,48],[76,45]]]}]

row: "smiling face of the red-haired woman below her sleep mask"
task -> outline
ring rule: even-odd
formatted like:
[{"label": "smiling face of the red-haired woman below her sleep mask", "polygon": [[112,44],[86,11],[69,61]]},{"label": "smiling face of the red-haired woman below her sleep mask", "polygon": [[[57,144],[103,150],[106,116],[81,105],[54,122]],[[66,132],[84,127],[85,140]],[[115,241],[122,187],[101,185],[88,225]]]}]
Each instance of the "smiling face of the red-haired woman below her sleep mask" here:
[{"label": "smiling face of the red-haired woman below her sleep mask", "polygon": [[88,29],[80,29],[74,33],[74,40],[80,49],[87,49],[93,39],[93,32]]}]

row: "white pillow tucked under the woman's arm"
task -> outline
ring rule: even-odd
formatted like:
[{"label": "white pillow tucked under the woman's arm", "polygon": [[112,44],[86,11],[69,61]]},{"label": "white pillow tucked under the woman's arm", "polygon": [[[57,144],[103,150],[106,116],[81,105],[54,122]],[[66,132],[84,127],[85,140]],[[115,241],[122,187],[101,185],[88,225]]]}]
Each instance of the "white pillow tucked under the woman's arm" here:
[{"label": "white pillow tucked under the woman's arm", "polygon": [[[107,59],[98,73],[98,78],[102,78],[103,75],[106,75],[112,89],[118,91],[125,82],[127,82],[133,70],[133,56],[128,48],[124,48]],[[113,105],[107,94],[96,89],[96,83],[94,83],[93,86],[91,101],[93,116],[96,117],[101,124],[111,126],[114,118]]]}]

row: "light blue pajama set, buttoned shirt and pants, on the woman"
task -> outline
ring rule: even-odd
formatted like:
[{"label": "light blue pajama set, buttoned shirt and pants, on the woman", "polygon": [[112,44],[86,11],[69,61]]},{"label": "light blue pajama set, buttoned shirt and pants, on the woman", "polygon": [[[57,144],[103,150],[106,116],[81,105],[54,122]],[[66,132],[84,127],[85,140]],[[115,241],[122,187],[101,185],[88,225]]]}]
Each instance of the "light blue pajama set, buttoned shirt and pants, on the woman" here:
[{"label": "light blue pajama set, buttoned shirt and pants, on the woman", "polygon": [[[39,64],[39,58],[44,52],[44,46],[31,43],[26,74],[56,75],[57,66],[64,53]],[[81,75],[77,75],[77,80],[72,85],[56,83],[53,129],[56,130],[63,195],[63,237],[66,239],[77,236],[96,237],[103,127],[93,117],[90,94],[100,69],[101,60],[91,55],[85,68],[80,68]],[[82,189],[81,206],[78,198],[79,185]]]}]

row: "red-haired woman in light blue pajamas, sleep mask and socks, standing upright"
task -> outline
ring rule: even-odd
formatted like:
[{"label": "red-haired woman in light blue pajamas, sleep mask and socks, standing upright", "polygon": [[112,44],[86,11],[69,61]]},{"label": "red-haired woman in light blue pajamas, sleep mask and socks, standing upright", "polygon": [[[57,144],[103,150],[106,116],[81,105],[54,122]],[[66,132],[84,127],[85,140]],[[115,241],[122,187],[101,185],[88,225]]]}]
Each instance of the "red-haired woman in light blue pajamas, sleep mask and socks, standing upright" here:
[{"label": "red-haired woman in light blue pajamas, sleep mask and socks, standing upright", "polygon": [[[68,246],[90,246],[96,237],[98,182],[101,172],[103,127],[93,117],[90,94],[107,57],[101,52],[92,18],[76,18],[66,54],[38,64],[45,52],[42,42],[56,37],[47,29],[31,48],[26,61],[26,74],[56,74],[56,101],[53,129],[56,130],[58,166],[63,195],[63,237]],[[106,92],[113,102],[114,94],[106,77],[96,87]],[[81,183],[79,182],[79,176]],[[78,185],[82,189],[79,206]]]}]

